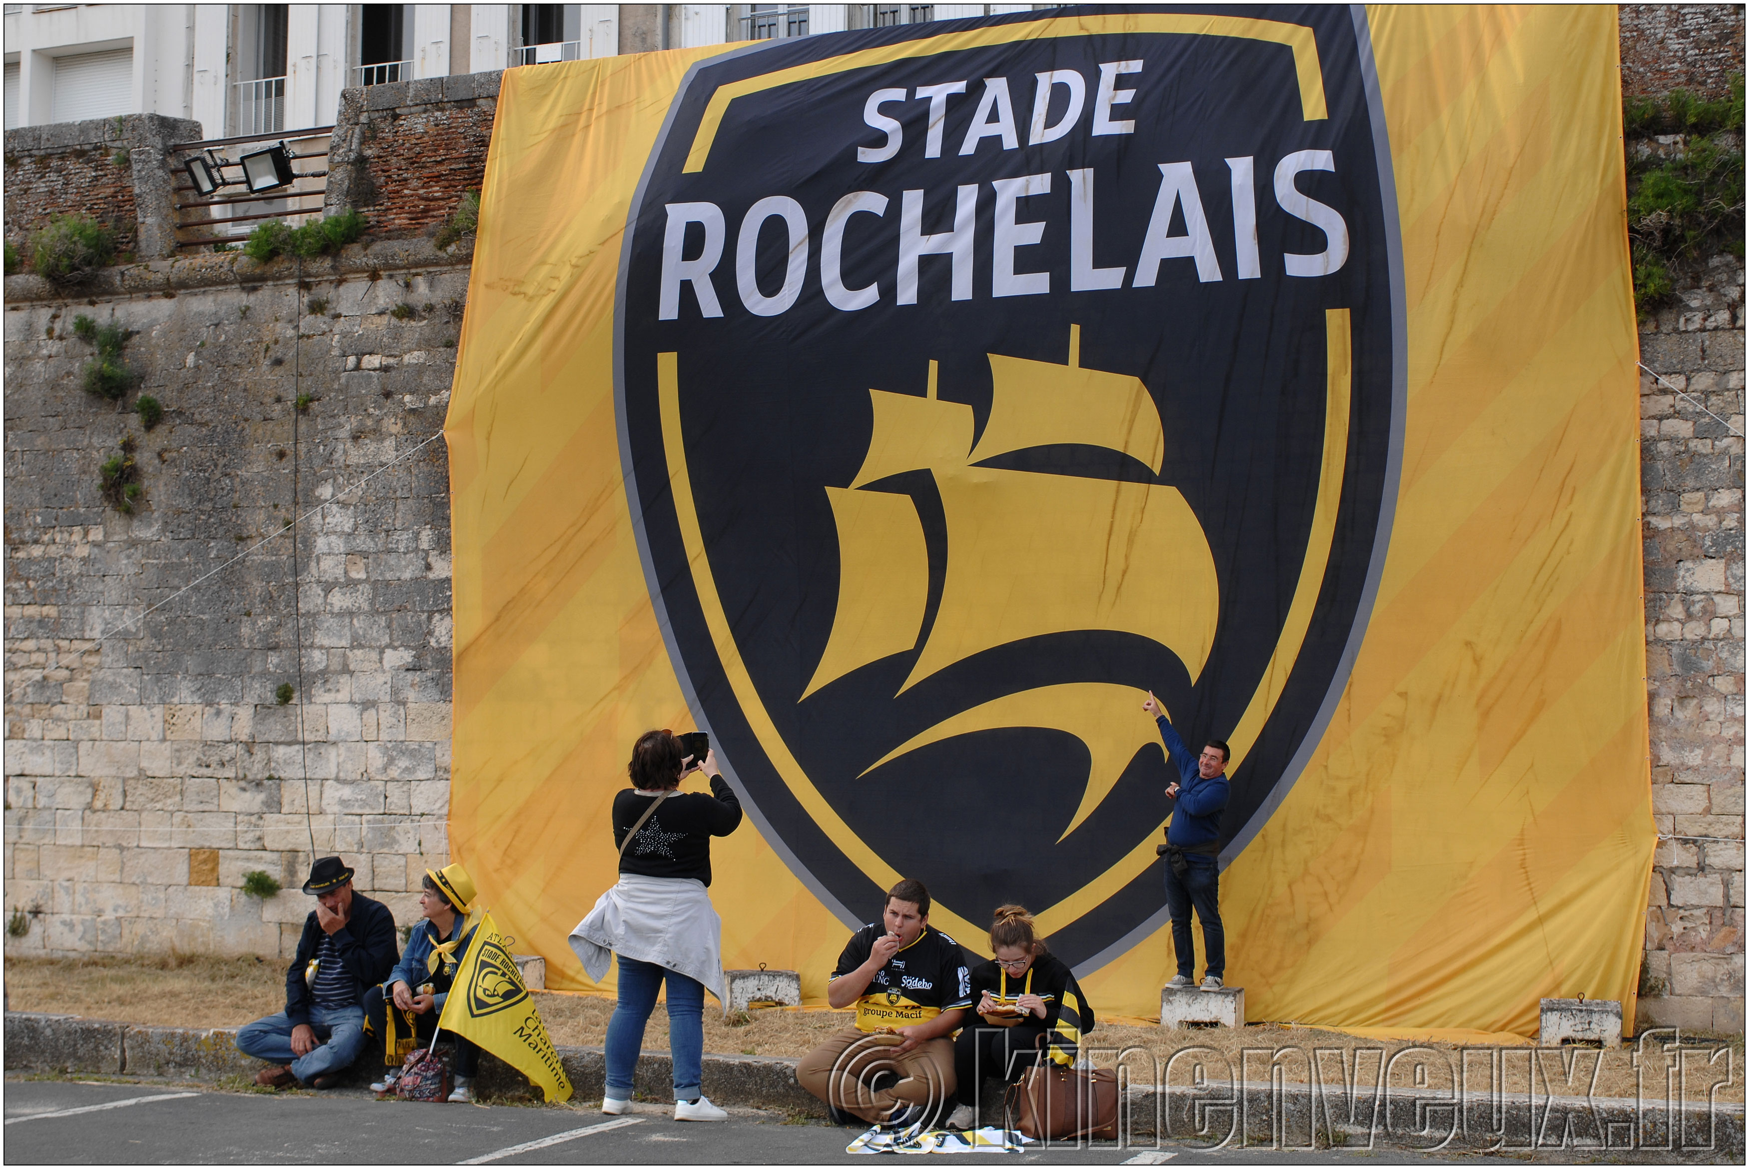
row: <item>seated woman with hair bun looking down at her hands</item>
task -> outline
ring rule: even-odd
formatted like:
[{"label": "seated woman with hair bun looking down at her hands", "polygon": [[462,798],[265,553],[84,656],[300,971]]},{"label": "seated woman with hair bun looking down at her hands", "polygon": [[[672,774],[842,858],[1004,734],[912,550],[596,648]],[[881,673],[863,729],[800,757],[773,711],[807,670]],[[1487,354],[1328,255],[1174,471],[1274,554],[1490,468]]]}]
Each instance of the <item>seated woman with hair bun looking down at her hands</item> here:
[{"label": "seated woman with hair bun looking down at her hands", "polygon": [[978,1090],[986,1076],[1018,1083],[1041,1059],[1076,1062],[1081,1036],[1093,1031],[1093,1008],[1074,973],[1037,936],[1032,914],[1004,905],[990,926],[995,961],[972,968],[981,1024],[967,1024],[953,1041],[955,1092],[950,1129],[978,1127]]}]

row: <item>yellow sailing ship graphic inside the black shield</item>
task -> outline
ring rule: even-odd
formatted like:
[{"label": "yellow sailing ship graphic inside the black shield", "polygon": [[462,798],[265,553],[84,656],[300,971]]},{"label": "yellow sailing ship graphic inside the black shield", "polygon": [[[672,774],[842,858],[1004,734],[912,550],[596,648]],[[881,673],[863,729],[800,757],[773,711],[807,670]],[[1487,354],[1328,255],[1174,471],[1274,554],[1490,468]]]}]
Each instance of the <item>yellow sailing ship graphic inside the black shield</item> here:
[{"label": "yellow sailing ship graphic inside the black shield", "polygon": [[[1174,486],[981,466],[1039,446],[1098,446],[1160,474],[1167,436],[1140,378],[1088,369],[1079,326],[1069,364],[990,354],[990,420],[972,441],[972,408],[937,396],[869,390],[874,427],[850,486],[827,486],[838,528],[838,607],[803,700],[881,658],[922,649],[899,691],[986,649],[1077,630],[1147,637],[1202,674],[1219,618],[1214,553]],[[946,583],[934,621],[929,548],[909,495],[881,490],[929,471],[946,514]],[[1098,522],[1090,523],[1088,516]],[[1091,756],[1067,836],[1133,758],[1158,742],[1137,718],[1140,691],[1109,682],[1025,690],[955,714],[869,770],[932,742],[1002,726],[1076,735]],[[868,774],[868,772],[864,772]]]}]

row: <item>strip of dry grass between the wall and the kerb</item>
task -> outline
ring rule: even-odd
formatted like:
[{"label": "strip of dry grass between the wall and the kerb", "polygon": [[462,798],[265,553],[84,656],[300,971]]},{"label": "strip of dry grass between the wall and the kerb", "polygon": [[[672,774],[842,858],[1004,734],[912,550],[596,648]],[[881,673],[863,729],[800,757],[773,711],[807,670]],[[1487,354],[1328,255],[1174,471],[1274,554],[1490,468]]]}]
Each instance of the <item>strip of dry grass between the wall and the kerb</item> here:
[{"label": "strip of dry grass between the wall and the kerb", "polygon": [[[278,961],[257,957],[208,957],[191,954],[140,957],[87,957],[38,959],[7,957],[5,985],[12,1010],[84,1015],[87,1018],[117,1018],[166,1027],[236,1027],[283,1010],[285,968]],[[563,1046],[600,1046],[607,1036],[607,1020],[614,1013],[610,999],[540,992],[540,1017],[553,1041]],[[726,1055],[803,1055],[833,1031],[850,1022],[850,1012],[768,1008],[724,1018],[714,1003],[705,1006],[705,1050]],[[1429,1087],[1452,1085],[1467,1068],[1469,1083],[1488,1090],[1490,1076],[1499,1074],[1508,1092],[1525,1092],[1536,1078],[1537,1096],[1618,1096],[1630,1097],[1642,1078],[1648,1099],[1663,1099],[1665,1071],[1676,1057],[1662,1048],[1649,1048],[1641,1073],[1634,1068],[1634,1048],[1595,1052],[1572,1048],[1567,1054],[1571,1069],[1557,1052],[1532,1048],[1460,1048],[1448,1043],[1413,1043],[1406,1040],[1364,1040],[1340,1031],[1313,1027],[1282,1027],[1258,1024],[1233,1031],[1210,1027],[1205,1031],[1161,1031],[1160,1027],[1133,1027],[1100,1024],[1088,1036],[1095,1062],[1111,1066],[1116,1060],[1130,1069],[1132,1083],[1156,1080],[1156,1069],[1165,1073],[1170,1064],[1172,1083],[1189,1074],[1189,1057],[1174,1060],[1186,1048],[1209,1048],[1210,1080],[1226,1078],[1231,1068],[1235,1078],[1268,1080],[1272,1062],[1279,1064],[1289,1082],[1305,1083],[1313,1062],[1326,1083],[1340,1074],[1334,1060],[1343,1060],[1354,1074],[1355,1062],[1362,1078],[1376,1080],[1383,1064],[1392,1083],[1411,1083],[1411,1059],[1404,1057],[1392,1068],[1397,1052],[1418,1048],[1436,1054],[1429,1064]],[[1744,1099],[1744,1041],[1690,1038],[1681,1057],[1686,1068],[1690,1099],[1742,1102]],[[659,1006],[644,1031],[645,1050],[668,1048],[668,1015]],[[1499,1052],[1495,1055],[1495,1050]],[[1725,1054],[1719,1054],[1725,1052]],[[1279,1054],[1279,1055],[1277,1055]],[[1223,1062],[1226,1060],[1224,1068]],[[1366,1062],[1378,1060],[1378,1062]],[[1497,1060],[1497,1062],[1495,1062]],[[1532,1064],[1532,1060],[1536,1060]],[[1532,1071],[1532,1066],[1536,1071]],[[1499,1073],[1492,1069],[1499,1068]],[[1592,1071],[1595,1068],[1595,1080]],[[1728,1080],[1726,1080],[1728,1076]],[[1714,1085],[1719,1085],[1714,1088]]]}]

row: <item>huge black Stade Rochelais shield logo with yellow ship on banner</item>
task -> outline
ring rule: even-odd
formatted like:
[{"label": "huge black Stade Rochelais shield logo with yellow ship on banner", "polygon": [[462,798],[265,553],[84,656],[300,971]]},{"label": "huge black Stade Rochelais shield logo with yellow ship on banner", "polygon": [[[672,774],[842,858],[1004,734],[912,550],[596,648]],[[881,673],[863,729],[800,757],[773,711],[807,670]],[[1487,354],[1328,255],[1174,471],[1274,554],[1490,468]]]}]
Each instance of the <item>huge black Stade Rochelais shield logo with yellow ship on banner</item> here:
[{"label": "huge black Stade Rochelais shield logo with yellow ship on banner", "polygon": [[937,922],[1028,905],[1083,968],[1139,940],[1172,810],[1146,690],[1233,746],[1226,859],[1293,784],[1394,499],[1369,93],[1340,7],[694,66],[621,268],[633,523],[700,724],[847,922],[904,875]]}]

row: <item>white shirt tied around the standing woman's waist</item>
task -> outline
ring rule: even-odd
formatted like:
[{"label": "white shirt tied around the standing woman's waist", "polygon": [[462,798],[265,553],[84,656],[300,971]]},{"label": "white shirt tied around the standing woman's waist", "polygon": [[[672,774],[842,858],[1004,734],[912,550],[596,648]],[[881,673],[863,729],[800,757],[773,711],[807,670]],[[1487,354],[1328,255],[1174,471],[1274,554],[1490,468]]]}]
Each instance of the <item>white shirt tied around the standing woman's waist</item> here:
[{"label": "white shirt tied around the standing woman's waist", "polygon": [[[570,931],[582,970],[600,982],[614,954],[652,962],[722,994],[722,919],[705,882],[691,877],[621,873],[589,915]],[[724,1010],[728,1010],[724,1006]]]}]

